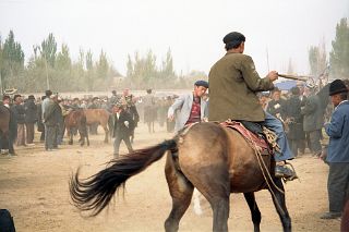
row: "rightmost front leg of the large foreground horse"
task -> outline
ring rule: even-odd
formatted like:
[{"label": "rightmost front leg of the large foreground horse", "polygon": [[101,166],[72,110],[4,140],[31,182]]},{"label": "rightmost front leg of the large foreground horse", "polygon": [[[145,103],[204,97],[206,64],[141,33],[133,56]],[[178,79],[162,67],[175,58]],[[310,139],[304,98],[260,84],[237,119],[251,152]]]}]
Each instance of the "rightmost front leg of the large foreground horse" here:
[{"label": "rightmost front leg of the large foreground horse", "polygon": [[[273,203],[276,208],[277,213],[280,217],[282,228],[285,232],[291,231],[291,218],[287,211],[286,202],[285,202],[285,190],[281,182],[281,179],[274,178],[273,179],[276,186],[272,184],[269,192],[272,194]],[[279,190],[281,190],[284,193],[281,193]]]}]

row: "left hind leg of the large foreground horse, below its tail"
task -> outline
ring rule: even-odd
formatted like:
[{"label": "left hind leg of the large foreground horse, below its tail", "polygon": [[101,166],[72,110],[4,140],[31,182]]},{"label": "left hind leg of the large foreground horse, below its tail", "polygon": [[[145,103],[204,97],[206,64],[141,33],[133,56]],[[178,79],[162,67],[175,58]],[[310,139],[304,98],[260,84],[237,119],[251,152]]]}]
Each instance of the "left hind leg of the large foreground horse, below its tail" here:
[{"label": "left hind leg of the large foreground horse, below its tail", "polygon": [[189,180],[174,168],[170,154],[167,156],[165,173],[172,197],[172,210],[165,221],[165,231],[177,232],[179,221],[190,206],[194,187]]}]

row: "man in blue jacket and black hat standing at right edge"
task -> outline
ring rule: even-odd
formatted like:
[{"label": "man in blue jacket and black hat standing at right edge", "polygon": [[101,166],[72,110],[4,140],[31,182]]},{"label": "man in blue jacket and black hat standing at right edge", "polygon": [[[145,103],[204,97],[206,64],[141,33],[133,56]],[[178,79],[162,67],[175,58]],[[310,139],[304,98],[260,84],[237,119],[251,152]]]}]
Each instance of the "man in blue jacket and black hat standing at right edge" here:
[{"label": "man in blue jacket and black hat standing at right edge", "polygon": [[348,89],[342,81],[329,85],[330,100],[335,107],[325,131],[329,136],[326,161],[329,164],[327,191],[329,211],[322,219],[336,219],[341,216],[349,190],[349,101]]}]

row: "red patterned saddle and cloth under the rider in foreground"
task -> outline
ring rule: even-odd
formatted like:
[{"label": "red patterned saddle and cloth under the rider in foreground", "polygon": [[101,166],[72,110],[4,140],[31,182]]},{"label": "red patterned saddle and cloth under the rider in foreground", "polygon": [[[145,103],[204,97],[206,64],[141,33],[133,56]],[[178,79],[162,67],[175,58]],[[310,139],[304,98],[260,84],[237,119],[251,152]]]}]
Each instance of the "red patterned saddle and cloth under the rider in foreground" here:
[{"label": "red patterned saddle and cloth under the rider in foreground", "polygon": [[[251,124],[251,122],[249,123]],[[254,123],[255,125],[253,126],[250,126],[250,124],[249,124],[249,129],[246,129],[243,122],[227,120],[225,122],[219,123],[219,125],[224,127],[228,127],[239,132],[249,142],[251,147],[253,149],[256,149],[256,151],[261,152],[261,155],[264,155],[264,156],[274,155],[274,148],[275,146],[277,146],[275,145],[276,136],[273,138],[270,134],[266,134],[266,133],[273,133],[273,132],[269,130],[268,132],[266,132],[265,130],[267,129],[262,127],[257,123]]]}]

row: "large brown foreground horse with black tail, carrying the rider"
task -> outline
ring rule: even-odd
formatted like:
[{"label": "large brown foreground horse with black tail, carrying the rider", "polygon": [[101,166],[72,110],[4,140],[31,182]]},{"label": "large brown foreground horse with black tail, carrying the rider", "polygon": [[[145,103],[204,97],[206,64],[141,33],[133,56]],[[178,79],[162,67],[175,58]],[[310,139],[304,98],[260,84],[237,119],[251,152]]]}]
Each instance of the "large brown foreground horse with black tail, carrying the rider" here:
[{"label": "large brown foreground horse with black tail, carrying the rider", "polygon": [[[213,230],[228,231],[230,193],[243,193],[251,210],[254,231],[260,231],[261,212],[254,192],[269,190],[284,231],[291,231],[284,186],[274,174],[272,156],[257,156],[238,132],[215,123],[200,123],[173,139],[135,150],[110,161],[105,170],[84,181],[71,178],[70,194],[80,210],[99,213],[125,181],[167,155],[165,173],[172,210],[165,222],[166,231],[178,231],[196,187],[213,209]],[[264,163],[264,164],[263,164]]]}]

